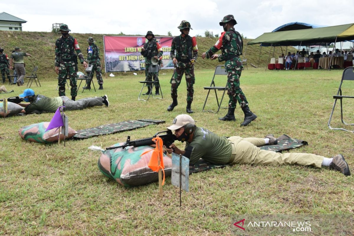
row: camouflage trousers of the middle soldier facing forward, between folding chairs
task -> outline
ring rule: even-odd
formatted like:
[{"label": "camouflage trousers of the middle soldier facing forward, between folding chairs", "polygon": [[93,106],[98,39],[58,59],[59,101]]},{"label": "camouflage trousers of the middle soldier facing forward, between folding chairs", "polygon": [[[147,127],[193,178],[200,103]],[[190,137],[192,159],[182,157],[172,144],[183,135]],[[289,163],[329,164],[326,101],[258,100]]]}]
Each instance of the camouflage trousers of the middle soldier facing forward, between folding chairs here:
[{"label": "camouflage trousers of the middle soldier facing forward, between folding chairs", "polygon": [[190,65],[179,62],[178,67],[175,65],[175,71],[173,71],[170,81],[171,98],[177,99],[177,88],[181,84],[183,73],[185,73],[185,81],[187,82],[187,102],[192,102],[194,94],[193,85],[195,83],[194,64]]}]

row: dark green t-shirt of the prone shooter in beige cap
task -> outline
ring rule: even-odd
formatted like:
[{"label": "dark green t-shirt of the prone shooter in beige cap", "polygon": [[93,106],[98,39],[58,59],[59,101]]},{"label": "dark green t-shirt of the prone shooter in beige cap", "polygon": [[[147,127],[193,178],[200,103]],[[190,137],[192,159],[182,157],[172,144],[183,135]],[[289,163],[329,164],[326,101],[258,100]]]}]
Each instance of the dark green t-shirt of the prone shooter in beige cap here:
[{"label": "dark green t-shirt of the prone shooter in beige cap", "polygon": [[232,147],[229,140],[207,129],[197,127],[192,142],[186,142],[184,150],[191,150],[189,163],[194,164],[200,158],[214,164],[226,164],[231,159]]}]

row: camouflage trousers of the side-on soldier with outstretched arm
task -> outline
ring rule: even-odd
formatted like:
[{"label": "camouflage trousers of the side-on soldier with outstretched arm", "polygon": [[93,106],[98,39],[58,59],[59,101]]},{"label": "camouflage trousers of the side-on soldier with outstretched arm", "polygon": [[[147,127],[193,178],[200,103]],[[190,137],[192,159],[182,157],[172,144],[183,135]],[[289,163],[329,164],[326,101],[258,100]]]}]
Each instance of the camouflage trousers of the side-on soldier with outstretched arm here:
[{"label": "camouflage trousers of the side-on soldier with outstretched arm", "polygon": [[246,107],[248,105],[245,94],[240,88],[240,76],[242,67],[235,65],[227,65],[225,63],[225,69],[227,72],[227,94],[229,95],[229,108],[235,108],[237,102],[240,107]]}]

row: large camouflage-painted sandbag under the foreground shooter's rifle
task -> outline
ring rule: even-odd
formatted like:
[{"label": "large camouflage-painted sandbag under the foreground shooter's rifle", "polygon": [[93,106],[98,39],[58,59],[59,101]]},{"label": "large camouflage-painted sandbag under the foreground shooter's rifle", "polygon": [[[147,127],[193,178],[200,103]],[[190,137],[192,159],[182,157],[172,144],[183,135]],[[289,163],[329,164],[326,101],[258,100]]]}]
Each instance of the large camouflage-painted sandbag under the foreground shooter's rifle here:
[{"label": "large camouflage-painted sandbag under the foreground shooter's rifle", "polygon": [[[148,167],[152,152],[140,156],[144,151],[152,149],[150,146],[140,146],[127,147],[126,150],[122,148],[106,150],[98,159],[98,168],[105,176],[126,187],[157,182],[158,172]],[[172,160],[166,155],[163,158],[165,177],[171,176]]]}]

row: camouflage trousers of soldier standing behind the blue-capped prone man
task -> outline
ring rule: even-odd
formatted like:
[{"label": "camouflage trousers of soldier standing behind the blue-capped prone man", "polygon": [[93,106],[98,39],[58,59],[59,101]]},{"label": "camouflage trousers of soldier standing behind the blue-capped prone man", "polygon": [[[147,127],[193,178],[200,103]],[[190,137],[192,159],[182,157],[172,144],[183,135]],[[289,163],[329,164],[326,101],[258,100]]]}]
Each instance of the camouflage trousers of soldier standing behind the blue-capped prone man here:
[{"label": "camouflage trousers of soldier standing behind the blue-capped prone man", "polygon": [[65,85],[67,76],[70,79],[70,95],[76,97],[77,85],[76,85],[76,65],[75,62],[60,62],[59,64],[59,96],[65,96]]}]

